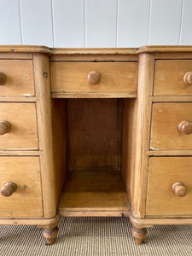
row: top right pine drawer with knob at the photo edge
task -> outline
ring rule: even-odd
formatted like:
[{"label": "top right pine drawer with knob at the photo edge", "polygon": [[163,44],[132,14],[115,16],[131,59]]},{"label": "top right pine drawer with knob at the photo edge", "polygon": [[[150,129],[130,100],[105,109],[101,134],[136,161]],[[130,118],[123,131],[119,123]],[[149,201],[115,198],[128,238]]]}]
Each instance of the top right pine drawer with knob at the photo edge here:
[{"label": "top right pine drawer with knob at the photo edge", "polygon": [[155,61],[154,96],[192,96],[192,60]]}]

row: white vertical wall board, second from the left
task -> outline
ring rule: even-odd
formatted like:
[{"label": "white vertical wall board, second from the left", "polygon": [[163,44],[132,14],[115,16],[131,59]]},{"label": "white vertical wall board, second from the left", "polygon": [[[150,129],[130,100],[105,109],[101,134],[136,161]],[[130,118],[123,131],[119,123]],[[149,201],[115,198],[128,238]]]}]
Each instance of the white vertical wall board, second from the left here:
[{"label": "white vertical wall board, second from the left", "polygon": [[20,0],[23,44],[53,46],[51,0]]}]

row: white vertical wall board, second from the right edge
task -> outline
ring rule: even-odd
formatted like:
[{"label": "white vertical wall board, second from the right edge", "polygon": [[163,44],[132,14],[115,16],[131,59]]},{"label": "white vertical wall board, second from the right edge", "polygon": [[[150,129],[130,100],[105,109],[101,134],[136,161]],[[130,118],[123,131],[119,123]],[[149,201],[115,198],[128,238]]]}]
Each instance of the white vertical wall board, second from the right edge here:
[{"label": "white vertical wall board, second from the right edge", "polygon": [[182,0],[151,0],[148,44],[178,44]]}]

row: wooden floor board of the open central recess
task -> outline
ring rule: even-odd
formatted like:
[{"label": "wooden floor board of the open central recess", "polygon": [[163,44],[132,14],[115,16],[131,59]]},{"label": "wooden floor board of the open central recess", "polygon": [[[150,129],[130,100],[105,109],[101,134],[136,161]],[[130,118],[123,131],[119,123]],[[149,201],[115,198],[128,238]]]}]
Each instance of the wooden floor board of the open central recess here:
[{"label": "wooden floor board of the open central recess", "polygon": [[[110,212],[129,212],[125,189],[117,171],[73,171],[61,194],[58,211],[99,212],[99,216],[111,216]],[[79,214],[79,213],[78,213]],[[87,214],[86,214],[87,216]]]}]

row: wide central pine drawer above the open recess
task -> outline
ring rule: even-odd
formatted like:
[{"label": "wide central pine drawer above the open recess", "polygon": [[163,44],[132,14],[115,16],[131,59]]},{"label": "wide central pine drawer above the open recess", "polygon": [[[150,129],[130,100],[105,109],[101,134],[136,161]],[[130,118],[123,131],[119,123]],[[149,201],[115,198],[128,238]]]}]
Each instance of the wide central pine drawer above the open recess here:
[{"label": "wide central pine drawer above the open recess", "polygon": [[137,91],[137,62],[52,61],[50,69],[52,92]]}]

